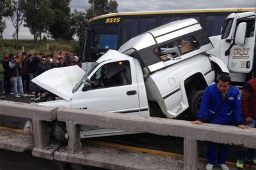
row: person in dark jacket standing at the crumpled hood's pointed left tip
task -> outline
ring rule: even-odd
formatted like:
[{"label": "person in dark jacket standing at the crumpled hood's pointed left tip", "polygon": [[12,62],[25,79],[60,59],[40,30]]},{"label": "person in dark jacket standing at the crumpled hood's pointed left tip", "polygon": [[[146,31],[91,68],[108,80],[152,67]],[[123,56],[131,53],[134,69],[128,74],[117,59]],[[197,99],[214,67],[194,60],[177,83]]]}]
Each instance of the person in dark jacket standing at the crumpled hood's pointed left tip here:
[{"label": "person in dark jacket standing at the crumpled hood's pointed left tip", "polygon": [[28,66],[30,85],[31,85],[30,90],[32,94],[35,94],[36,85],[31,80],[37,76],[37,68],[38,68],[39,62],[40,62],[40,55],[38,55],[38,53],[35,53],[35,55],[28,54],[27,66]]}]

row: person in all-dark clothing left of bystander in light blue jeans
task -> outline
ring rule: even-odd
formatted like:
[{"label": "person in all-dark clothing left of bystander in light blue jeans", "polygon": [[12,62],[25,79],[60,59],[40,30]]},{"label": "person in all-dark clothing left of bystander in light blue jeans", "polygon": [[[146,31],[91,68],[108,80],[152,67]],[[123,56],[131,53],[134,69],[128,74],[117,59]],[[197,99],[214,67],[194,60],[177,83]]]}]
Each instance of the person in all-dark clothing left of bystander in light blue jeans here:
[{"label": "person in all-dark clothing left of bystander in light blue jeans", "polygon": [[4,89],[8,94],[11,92],[11,71],[9,67],[10,57],[8,54],[4,55],[3,67],[4,67]]}]

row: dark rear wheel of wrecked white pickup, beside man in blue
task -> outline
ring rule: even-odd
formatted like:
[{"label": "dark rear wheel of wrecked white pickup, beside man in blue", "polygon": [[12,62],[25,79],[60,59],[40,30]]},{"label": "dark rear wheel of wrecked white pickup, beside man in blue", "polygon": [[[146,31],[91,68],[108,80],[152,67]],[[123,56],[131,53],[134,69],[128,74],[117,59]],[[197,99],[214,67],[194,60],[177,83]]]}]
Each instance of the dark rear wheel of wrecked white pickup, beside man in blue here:
[{"label": "dark rear wheel of wrecked white pickup, beside man in blue", "polygon": [[188,116],[191,120],[197,119],[197,113],[200,108],[202,97],[204,95],[204,90],[196,90],[191,92],[188,96],[189,103],[189,113]]}]

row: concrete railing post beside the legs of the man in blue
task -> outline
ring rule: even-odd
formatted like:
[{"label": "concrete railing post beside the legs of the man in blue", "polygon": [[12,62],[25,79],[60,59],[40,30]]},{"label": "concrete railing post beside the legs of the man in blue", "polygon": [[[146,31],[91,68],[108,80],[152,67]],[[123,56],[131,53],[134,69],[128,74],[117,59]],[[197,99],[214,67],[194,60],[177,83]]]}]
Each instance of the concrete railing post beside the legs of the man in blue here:
[{"label": "concrete railing post beside the legs of the man in blue", "polygon": [[197,141],[184,138],[184,170],[197,170]]}]

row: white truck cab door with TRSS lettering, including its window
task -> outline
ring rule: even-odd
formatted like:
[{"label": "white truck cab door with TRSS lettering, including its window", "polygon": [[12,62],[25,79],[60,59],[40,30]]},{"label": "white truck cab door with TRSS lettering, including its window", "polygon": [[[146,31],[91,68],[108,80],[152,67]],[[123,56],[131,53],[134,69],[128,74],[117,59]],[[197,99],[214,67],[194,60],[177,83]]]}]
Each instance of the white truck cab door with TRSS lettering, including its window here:
[{"label": "white truck cab door with TRSS lettering, including its window", "polygon": [[240,18],[236,22],[236,32],[232,41],[235,41],[237,34],[243,34],[243,31],[239,32],[239,24],[246,25],[245,40],[240,45],[234,45],[230,48],[230,54],[228,57],[228,69],[232,72],[238,73],[250,73],[253,69],[253,55],[255,48],[255,17]]}]

